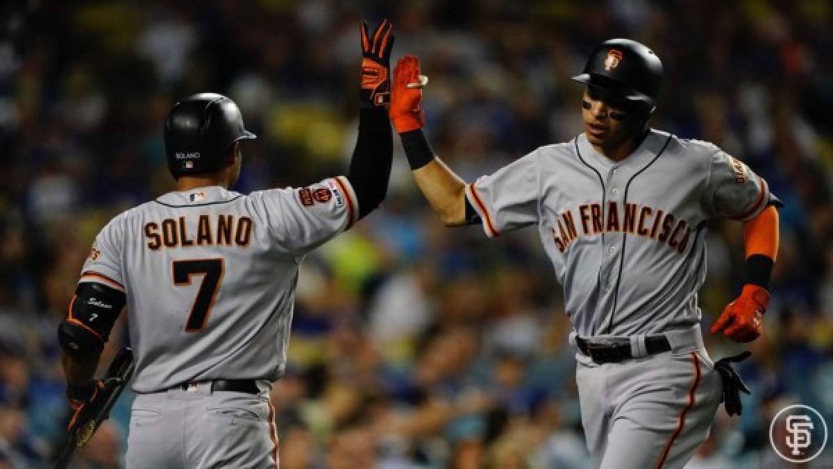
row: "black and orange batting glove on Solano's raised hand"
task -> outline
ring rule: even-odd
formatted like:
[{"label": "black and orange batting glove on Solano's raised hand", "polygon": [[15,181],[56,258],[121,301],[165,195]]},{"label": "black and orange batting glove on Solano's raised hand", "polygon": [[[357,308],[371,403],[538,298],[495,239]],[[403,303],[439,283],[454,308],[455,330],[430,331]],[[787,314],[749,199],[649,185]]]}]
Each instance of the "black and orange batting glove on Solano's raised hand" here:
[{"label": "black and orange batting glove on Solano's raised hand", "polygon": [[359,98],[364,107],[385,106],[391,89],[390,68],[393,48],[393,25],[383,21],[373,36],[362,22],[362,88]]}]

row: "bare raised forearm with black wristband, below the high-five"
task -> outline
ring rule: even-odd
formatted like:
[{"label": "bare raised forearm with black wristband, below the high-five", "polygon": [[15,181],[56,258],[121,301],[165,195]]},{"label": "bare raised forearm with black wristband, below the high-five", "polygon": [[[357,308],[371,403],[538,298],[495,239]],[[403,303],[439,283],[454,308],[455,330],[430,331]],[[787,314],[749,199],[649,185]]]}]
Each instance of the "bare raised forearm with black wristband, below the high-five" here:
[{"label": "bare raised forearm with black wristband, below the high-five", "polygon": [[400,134],[416,185],[448,226],[465,224],[466,182],[431,151],[420,129]]}]

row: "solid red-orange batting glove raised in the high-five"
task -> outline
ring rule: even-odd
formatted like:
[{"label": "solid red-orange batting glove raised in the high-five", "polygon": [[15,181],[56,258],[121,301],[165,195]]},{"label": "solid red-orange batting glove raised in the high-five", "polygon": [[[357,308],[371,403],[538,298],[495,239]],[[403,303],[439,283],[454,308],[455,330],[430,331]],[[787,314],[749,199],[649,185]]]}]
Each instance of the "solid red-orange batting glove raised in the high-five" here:
[{"label": "solid red-orange batting glove raised in the high-five", "polygon": [[425,125],[425,112],[420,109],[422,87],[428,77],[419,74],[419,57],[406,55],[393,68],[391,107],[388,110],[397,133],[411,132]]}]

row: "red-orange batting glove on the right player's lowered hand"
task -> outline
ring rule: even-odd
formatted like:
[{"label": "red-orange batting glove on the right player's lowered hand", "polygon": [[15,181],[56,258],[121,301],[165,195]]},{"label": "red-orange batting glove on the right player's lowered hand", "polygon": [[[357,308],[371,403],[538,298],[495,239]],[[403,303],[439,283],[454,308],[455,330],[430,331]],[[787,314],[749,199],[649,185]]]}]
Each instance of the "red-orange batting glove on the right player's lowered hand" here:
[{"label": "red-orange batting glove on the right player's lowered hand", "polygon": [[770,292],[757,285],[747,284],[741,296],[729,303],[711,327],[711,333],[723,332],[735,342],[752,342],[764,332],[761,316],[770,304]]}]

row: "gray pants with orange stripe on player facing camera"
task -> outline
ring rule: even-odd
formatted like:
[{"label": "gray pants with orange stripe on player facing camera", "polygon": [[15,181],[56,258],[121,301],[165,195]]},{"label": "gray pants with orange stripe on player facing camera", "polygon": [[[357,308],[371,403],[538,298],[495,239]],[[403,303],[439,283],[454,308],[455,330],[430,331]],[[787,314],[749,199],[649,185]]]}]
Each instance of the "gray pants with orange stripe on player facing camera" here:
[{"label": "gray pants with orange stripe on player facing camera", "polygon": [[576,354],[581,423],[596,467],[684,467],[709,436],[722,384],[700,328],[669,342],[671,352],[619,363]]}]

